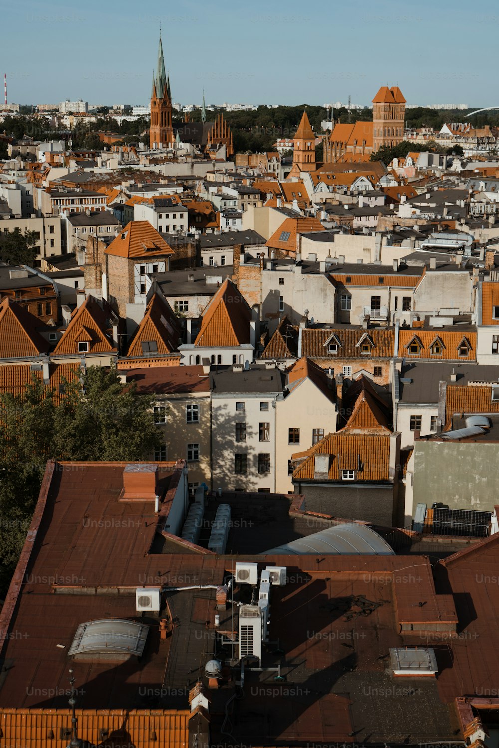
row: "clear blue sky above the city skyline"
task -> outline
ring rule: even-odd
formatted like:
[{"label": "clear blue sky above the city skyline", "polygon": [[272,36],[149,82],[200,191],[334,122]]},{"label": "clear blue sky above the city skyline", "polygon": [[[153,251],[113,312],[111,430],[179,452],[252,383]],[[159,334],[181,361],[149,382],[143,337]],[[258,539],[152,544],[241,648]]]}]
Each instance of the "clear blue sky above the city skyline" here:
[{"label": "clear blue sky above the city skyline", "polygon": [[9,102],[147,104],[160,24],[183,105],[498,99],[497,0],[0,0]]}]

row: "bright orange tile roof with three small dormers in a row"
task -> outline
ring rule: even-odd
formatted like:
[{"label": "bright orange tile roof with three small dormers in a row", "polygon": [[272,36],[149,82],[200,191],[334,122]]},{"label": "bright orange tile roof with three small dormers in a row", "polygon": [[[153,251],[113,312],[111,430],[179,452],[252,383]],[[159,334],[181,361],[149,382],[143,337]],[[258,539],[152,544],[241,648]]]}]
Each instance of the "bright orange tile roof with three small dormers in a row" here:
[{"label": "bright orange tile roof with three small dormers in a row", "polygon": [[[410,343],[417,343],[419,350],[411,353]],[[459,355],[459,346],[468,346],[468,355]],[[432,346],[440,347],[441,353],[432,353]],[[435,361],[474,361],[477,352],[477,333],[459,330],[422,330],[409,328],[399,330],[397,355],[406,358],[430,358]]]}]

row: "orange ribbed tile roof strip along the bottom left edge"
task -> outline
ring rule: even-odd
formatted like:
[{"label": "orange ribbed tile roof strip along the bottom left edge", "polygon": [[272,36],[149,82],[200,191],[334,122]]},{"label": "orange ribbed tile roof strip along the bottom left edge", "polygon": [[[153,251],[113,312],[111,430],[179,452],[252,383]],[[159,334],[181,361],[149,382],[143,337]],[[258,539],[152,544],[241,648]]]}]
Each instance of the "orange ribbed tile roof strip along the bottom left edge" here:
[{"label": "orange ribbed tile roof strip along the bottom left edge", "polygon": [[[71,732],[64,731],[71,731],[72,714],[70,708],[0,708],[3,740],[8,746],[23,748],[65,748]],[[189,709],[76,709],[78,737],[85,745],[88,741],[96,746],[102,745],[101,730],[108,730],[116,744],[187,748],[189,717]],[[114,745],[113,738],[110,744]]]}]

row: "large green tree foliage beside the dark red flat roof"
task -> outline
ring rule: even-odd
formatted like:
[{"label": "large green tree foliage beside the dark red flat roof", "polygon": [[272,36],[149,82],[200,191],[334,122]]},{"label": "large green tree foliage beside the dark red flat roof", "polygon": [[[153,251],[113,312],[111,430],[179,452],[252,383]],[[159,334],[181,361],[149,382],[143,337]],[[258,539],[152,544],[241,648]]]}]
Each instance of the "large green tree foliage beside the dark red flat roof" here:
[{"label": "large green tree foliage beside the dark red flat roof", "polygon": [[0,396],[0,596],[16,566],[49,459],[135,462],[162,443],[153,399],[116,370],[90,367],[64,381],[64,396],[33,375],[25,391]]}]

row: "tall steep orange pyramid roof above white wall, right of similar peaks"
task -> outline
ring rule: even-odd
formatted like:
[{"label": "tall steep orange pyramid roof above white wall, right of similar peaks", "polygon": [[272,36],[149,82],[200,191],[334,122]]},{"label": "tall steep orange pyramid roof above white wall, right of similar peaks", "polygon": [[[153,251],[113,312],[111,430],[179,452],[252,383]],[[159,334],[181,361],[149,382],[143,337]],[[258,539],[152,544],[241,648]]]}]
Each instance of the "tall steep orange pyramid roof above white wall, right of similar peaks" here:
[{"label": "tall steep orange pyramid roof above white wall, right of similar peaks", "polygon": [[203,310],[195,346],[239,346],[251,343],[251,308],[227,278]]}]

